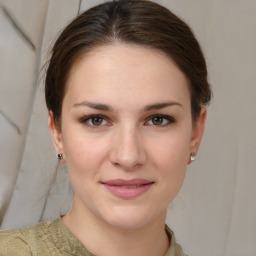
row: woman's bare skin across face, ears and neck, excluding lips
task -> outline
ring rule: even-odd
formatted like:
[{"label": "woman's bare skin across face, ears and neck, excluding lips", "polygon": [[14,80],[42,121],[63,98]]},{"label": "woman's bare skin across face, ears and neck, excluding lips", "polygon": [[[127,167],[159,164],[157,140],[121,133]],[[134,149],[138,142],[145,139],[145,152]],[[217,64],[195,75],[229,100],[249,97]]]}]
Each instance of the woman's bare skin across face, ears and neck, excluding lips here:
[{"label": "woman's bare skin across face, ears and neck, excluding lips", "polygon": [[[72,67],[61,129],[52,112],[49,128],[74,188],[62,220],[93,254],[165,255],[167,206],[198,151],[206,118],[202,107],[193,124],[188,86],[172,59],[135,45],[98,47]],[[135,178],[153,185],[132,199],[102,184]]]}]

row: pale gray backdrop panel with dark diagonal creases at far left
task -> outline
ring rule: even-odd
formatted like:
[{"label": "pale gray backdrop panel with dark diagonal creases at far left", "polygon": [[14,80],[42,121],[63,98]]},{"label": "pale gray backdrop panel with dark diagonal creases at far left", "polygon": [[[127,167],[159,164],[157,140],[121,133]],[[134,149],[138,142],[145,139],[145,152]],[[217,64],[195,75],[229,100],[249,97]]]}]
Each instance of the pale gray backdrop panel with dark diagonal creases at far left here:
[{"label": "pale gray backdrop panel with dark diagonal creases at far left", "polygon": [[22,159],[36,91],[47,2],[1,3],[0,209],[8,204]]}]

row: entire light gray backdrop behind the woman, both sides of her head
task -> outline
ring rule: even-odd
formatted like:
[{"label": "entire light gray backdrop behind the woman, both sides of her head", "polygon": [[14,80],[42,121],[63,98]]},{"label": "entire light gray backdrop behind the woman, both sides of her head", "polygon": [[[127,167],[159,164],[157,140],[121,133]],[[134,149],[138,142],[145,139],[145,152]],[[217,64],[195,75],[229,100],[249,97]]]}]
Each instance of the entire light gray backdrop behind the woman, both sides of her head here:
[{"label": "entire light gray backdrop behind the woman, both sides of her head", "polygon": [[[79,11],[100,2],[0,0],[2,228],[53,219],[70,207],[72,190],[64,170],[51,186],[56,159],[47,130],[43,81],[38,87],[37,77],[56,33]],[[167,222],[191,256],[254,256],[256,1],[157,2],[193,28],[214,91],[197,161],[188,168]]]}]

